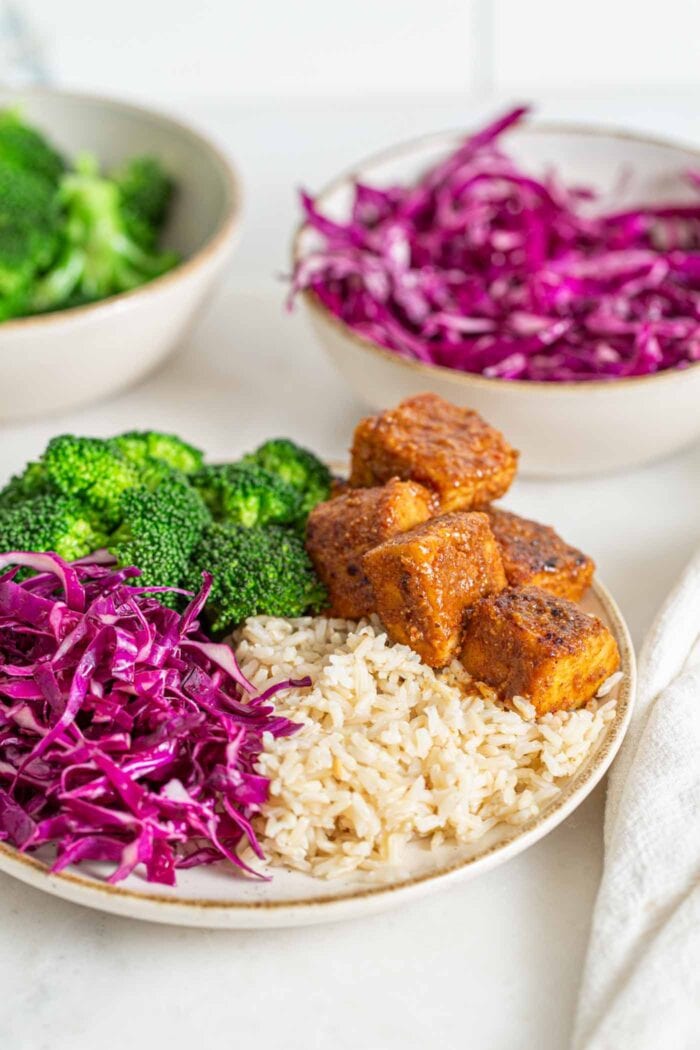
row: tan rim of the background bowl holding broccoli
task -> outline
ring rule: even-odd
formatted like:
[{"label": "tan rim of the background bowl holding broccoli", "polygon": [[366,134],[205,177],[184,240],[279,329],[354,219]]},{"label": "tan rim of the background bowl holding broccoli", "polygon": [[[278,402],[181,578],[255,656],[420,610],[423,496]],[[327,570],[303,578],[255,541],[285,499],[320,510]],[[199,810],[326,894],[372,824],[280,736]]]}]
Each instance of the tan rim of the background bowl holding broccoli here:
[{"label": "tan rim of the background bowl holding broccoli", "polygon": [[[13,92],[7,91],[6,93],[10,94]],[[21,92],[18,90],[17,93],[36,96],[37,98],[50,96],[59,99],[65,99],[68,102],[97,102],[101,105],[109,107],[110,109],[134,113],[135,116],[144,117],[153,123],[165,124],[172,128],[176,128],[185,134],[193,145],[197,146],[199,149],[206,150],[215,160],[226,185],[226,202],[224,217],[214,233],[212,233],[209,239],[205,242],[201,248],[198,248],[192,253],[192,255],[183,259],[182,262],[178,262],[177,266],[175,266],[172,270],[169,270],[167,273],[161,274],[160,277],[153,277],[152,280],[147,281],[145,285],[140,285],[139,288],[132,288],[128,292],[119,292],[116,295],[110,295],[108,298],[100,299],[98,302],[87,302],[81,307],[69,307],[67,310],[57,310],[54,313],[34,314],[29,317],[17,317],[13,320],[2,321],[0,323],[0,336],[3,332],[18,332],[20,330],[26,331],[29,328],[56,324],[61,320],[72,320],[83,317],[87,318],[99,313],[119,310],[123,303],[131,302],[136,298],[142,298],[148,295],[151,290],[163,288],[167,284],[175,284],[179,277],[197,270],[204,262],[207,262],[213,255],[215,255],[219,248],[229,239],[240,216],[242,203],[240,176],[238,175],[233,163],[206,135],[201,134],[199,131],[195,131],[189,124],[176,120],[173,117],[166,116],[165,113],[160,113],[155,109],[132,105],[129,102],[122,102],[120,99],[112,99],[108,96],[91,94],[80,91],[54,91],[44,90],[42,88],[37,88],[36,90],[29,89],[26,91],[22,90]]]}]

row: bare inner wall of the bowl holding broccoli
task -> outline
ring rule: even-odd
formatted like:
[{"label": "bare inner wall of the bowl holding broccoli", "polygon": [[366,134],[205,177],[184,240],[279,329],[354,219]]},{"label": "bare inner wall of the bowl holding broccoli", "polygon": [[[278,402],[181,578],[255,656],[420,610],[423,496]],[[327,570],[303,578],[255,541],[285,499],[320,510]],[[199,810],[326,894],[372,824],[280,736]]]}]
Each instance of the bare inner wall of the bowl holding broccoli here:
[{"label": "bare inner wall of the bowl holding broccoli", "polygon": [[107,171],[140,153],[158,158],[177,185],[164,244],[185,257],[211,240],[231,210],[226,161],[167,117],[108,99],[43,90],[0,90],[4,106],[19,107],[66,154],[94,153]]}]

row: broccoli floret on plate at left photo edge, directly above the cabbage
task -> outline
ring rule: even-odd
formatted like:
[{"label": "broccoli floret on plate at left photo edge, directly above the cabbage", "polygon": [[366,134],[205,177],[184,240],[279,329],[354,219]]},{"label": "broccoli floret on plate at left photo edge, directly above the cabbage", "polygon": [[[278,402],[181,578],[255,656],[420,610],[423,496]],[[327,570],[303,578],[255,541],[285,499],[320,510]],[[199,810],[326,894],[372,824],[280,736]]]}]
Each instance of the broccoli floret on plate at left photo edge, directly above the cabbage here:
[{"label": "broccoli floret on plate at left photo edge, directly above the cabbage", "polygon": [[1,550],[52,550],[71,562],[105,541],[97,522],[70,497],[45,492],[0,508]]}]

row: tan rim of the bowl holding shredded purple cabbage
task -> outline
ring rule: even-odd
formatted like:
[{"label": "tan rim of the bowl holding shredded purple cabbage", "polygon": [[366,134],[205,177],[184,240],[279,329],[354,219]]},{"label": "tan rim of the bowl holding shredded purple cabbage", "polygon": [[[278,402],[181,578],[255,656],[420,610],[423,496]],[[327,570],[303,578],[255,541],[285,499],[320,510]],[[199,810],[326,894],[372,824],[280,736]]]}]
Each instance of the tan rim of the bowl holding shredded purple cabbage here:
[{"label": "tan rim of the bowl holding shredded purple cabbage", "polygon": [[[566,134],[580,134],[580,135],[592,135],[594,138],[607,136],[611,139],[622,139],[628,142],[638,142],[648,146],[662,146],[666,149],[678,149],[685,153],[692,153],[697,156],[698,163],[700,164],[700,149],[694,146],[686,145],[685,143],[674,141],[672,139],[663,139],[656,135],[645,135],[636,134],[634,131],[627,131],[622,128],[616,127],[606,127],[594,124],[576,124],[576,123],[566,123],[566,122],[550,122],[543,121],[536,124],[527,125],[528,134],[550,134],[551,132],[561,132]],[[438,131],[430,134],[421,135],[418,139],[408,139],[396,146],[390,146],[388,149],[381,150],[378,153],[373,153],[370,156],[355,164],[351,169],[344,171],[340,175],[337,175],[334,180],[327,183],[323,189],[321,189],[315,196],[317,203],[323,203],[331,194],[335,193],[342,186],[347,183],[354,182],[359,178],[367,167],[373,167],[377,164],[382,164],[386,161],[390,161],[395,158],[401,158],[405,154],[412,152],[415,149],[420,148],[430,143],[440,143],[441,141],[447,141],[452,139],[464,139],[468,131],[454,130],[454,131]],[[506,132],[507,134],[508,132]],[[293,267],[296,267],[303,258],[303,253],[301,251],[301,237],[303,233],[311,229],[307,223],[301,222],[294,231],[292,237],[292,262]],[[654,372],[649,376],[624,376],[619,379],[586,379],[578,382],[566,381],[566,382],[544,382],[539,379],[499,379],[491,378],[489,376],[482,376],[475,372],[460,372],[457,369],[447,369],[443,364],[424,364],[422,361],[413,361],[410,358],[402,357],[400,354],[396,354],[390,350],[386,350],[384,346],[380,346],[379,343],[374,342],[366,336],[359,335],[357,332],[345,324],[344,321],[336,317],[335,314],[331,313],[328,308],[321,302],[318,296],[311,291],[311,289],[304,289],[304,291],[299,293],[304,303],[312,313],[315,313],[322,321],[331,324],[337,330],[339,334],[349,339],[351,342],[355,343],[358,350],[368,351],[374,353],[378,357],[382,357],[386,361],[391,361],[394,364],[399,364],[409,371],[417,372],[419,375],[423,375],[426,378],[438,373],[439,375],[455,380],[457,382],[463,382],[468,386],[484,386],[490,390],[494,390],[496,386],[501,387],[503,391],[504,385],[510,387],[511,390],[547,390],[547,391],[580,391],[581,387],[587,390],[604,390],[613,391],[617,390],[622,385],[631,385],[638,383],[649,383],[654,380],[663,379],[678,379],[684,373],[692,371],[694,369],[700,368],[700,361],[695,361],[688,364],[684,369],[664,369],[662,372]]]}]

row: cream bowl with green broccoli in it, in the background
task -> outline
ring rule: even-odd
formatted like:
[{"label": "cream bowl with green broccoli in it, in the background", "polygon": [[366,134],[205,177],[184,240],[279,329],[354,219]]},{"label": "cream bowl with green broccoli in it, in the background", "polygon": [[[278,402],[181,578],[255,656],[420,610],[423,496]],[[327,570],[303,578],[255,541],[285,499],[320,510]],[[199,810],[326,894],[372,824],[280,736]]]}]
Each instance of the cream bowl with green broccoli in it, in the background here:
[{"label": "cream bowl with green broccoli in it, in the background", "polygon": [[230,162],[168,117],[0,90],[0,420],[134,382],[173,349],[232,249]]}]

